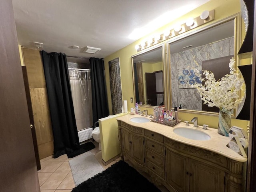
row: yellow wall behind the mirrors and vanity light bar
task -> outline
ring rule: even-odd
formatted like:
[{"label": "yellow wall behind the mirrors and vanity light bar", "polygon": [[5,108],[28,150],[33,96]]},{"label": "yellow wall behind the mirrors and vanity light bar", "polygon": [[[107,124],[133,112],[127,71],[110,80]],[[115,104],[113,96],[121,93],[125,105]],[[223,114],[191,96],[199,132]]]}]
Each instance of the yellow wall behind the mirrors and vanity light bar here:
[{"label": "yellow wall behind the mirrors and vanity light bar", "polygon": [[[199,16],[204,10],[215,10],[215,17],[214,20],[209,22],[208,24],[217,22],[218,20],[222,20],[228,16],[234,15],[240,12],[240,0],[211,0],[206,4],[192,10],[188,14],[174,20],[173,22],[167,24],[166,26],[157,29],[155,32],[144,36],[142,39],[146,39],[154,34],[161,34],[166,28],[171,28],[175,26],[175,24],[184,23],[187,18],[195,18]],[[201,26],[204,27],[205,25]],[[200,28],[200,27],[198,27]],[[244,22],[242,22],[242,39],[244,38]],[[111,107],[111,95],[110,95],[110,79],[109,79],[109,69],[108,69],[108,62],[113,60],[114,58],[119,57],[120,59],[120,73],[121,73],[121,84],[122,84],[122,100],[127,100],[128,102],[128,111],[131,107],[134,107],[134,103],[130,102],[130,98],[134,98],[134,90],[133,90],[133,77],[132,77],[132,61],[131,56],[137,54],[135,50],[135,45],[139,44],[142,39],[139,39],[132,44],[118,50],[117,52],[111,54],[104,58],[104,66],[106,70],[106,84],[107,84],[107,92],[108,92],[108,105],[110,109],[110,113],[112,112]],[[170,40],[170,39],[169,39]],[[248,63],[249,62],[249,63]],[[243,60],[242,64],[251,64],[250,60]],[[141,110],[146,109],[145,107],[141,107]],[[150,114],[152,114],[152,108],[148,108]],[[200,114],[189,114],[180,112],[179,118],[184,120],[191,120],[194,116],[198,117],[198,122],[200,125],[208,124],[209,127],[218,128],[218,116],[207,116],[207,115],[200,115]],[[246,129],[248,125],[248,121],[245,120],[236,120],[232,119],[232,125],[236,125]]]}]

